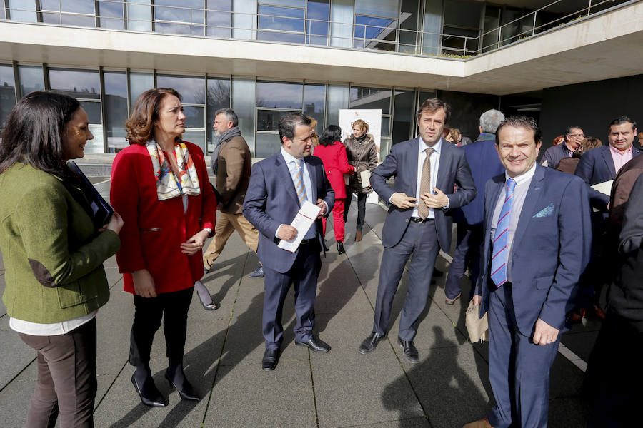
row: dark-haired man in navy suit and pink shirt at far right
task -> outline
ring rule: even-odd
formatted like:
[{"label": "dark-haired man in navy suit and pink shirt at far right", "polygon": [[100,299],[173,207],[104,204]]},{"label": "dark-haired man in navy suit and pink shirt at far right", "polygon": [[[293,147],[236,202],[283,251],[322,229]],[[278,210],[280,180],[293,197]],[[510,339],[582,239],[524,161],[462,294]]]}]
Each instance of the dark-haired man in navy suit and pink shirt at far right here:
[{"label": "dark-haired man in navy suit and pink shirt at far right", "polygon": [[615,118],[609,124],[607,141],[609,145],[594,148],[585,153],[578,163],[576,175],[587,183],[589,203],[597,212],[592,213],[592,261],[587,267],[581,281],[579,307],[574,310],[577,320],[584,316],[586,310],[604,319],[605,312],[599,306],[601,290],[604,284],[612,282],[616,274],[610,258],[613,253],[602,252],[607,247],[604,233],[607,230],[607,210],[609,209],[609,194],[604,194],[591,186],[605,181],[614,180],[623,165],[638,156],[641,151],[633,146],[637,136],[637,123],[627,116]]}]

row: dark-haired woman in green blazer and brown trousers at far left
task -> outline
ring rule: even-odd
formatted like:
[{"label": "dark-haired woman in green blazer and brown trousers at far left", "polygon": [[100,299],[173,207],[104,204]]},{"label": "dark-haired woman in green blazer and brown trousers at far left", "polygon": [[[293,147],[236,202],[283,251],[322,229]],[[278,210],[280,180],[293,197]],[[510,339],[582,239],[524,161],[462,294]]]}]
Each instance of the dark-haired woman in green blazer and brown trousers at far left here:
[{"label": "dark-haired woman in green blazer and brown trousers at far left", "polygon": [[9,327],[36,350],[28,427],[93,427],[96,312],[109,299],[103,262],[119,249],[117,213],[96,230],[81,181],[89,131],[76,99],[32,92],[11,110],[0,141],[2,296]]}]

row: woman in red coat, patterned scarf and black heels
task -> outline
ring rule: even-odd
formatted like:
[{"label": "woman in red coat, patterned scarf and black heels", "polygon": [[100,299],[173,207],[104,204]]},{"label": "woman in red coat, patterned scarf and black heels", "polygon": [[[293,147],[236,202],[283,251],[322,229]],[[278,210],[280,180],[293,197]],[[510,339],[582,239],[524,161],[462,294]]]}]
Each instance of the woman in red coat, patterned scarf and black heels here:
[{"label": "woman in red coat, patterned scarf and black heels", "polygon": [[128,148],[114,159],[111,205],[126,223],[116,253],[126,292],[134,294],[129,362],[141,401],[166,406],[149,367],[154,333],[164,317],[165,377],[182,399],[198,400],[183,372],[187,312],[203,276],[201,247],[214,229],[216,197],[203,152],[181,140],[185,115],[174,89],[149,89],[126,122]]}]

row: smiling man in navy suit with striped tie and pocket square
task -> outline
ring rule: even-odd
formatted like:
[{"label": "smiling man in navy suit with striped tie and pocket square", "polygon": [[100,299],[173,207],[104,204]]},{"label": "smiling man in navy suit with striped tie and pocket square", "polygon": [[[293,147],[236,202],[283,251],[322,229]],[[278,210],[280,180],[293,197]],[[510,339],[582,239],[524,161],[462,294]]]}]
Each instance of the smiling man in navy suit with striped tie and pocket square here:
[{"label": "smiling man in navy suit with striped tie and pocket square", "polygon": [[496,141],[505,173],[485,186],[474,295],[480,317],[489,311],[496,405],[464,427],[546,427],[549,370],[589,259],[587,187],[574,175],[537,165],[540,129],[532,118],[503,121]]}]

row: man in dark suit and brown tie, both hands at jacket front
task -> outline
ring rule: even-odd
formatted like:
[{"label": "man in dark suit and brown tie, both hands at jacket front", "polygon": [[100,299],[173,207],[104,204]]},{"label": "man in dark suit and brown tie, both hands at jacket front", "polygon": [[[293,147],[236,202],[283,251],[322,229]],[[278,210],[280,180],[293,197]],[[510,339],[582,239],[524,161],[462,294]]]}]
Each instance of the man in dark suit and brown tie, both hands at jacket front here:
[{"label": "man in dark suit and brown tie, both hands at jacket front", "polygon": [[[382,230],[382,265],[372,333],[359,352],[372,352],[387,335],[393,297],[409,257],[409,283],[397,342],[410,362],[418,362],[413,343],[419,317],[427,305],[439,249],[449,251],[453,219],[447,211],[475,197],[476,188],[464,151],[442,138],[450,108],[436,98],[417,112],[420,137],[397,143],[371,175],[372,188],[391,203]],[[393,189],[387,180],[395,176]],[[458,191],[453,193],[454,184]]]}]

